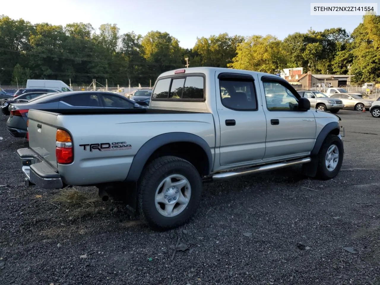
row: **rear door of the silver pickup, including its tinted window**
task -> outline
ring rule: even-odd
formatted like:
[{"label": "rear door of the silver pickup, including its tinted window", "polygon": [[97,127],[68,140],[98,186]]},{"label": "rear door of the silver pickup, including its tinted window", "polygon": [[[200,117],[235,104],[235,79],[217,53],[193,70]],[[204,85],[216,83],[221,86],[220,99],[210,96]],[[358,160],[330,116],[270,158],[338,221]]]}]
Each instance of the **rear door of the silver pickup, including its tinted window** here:
[{"label": "rear door of the silver pickup, including its tinted window", "polygon": [[215,88],[220,165],[261,161],[265,153],[266,119],[255,80],[248,74],[216,73]]}]

